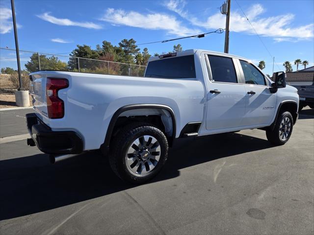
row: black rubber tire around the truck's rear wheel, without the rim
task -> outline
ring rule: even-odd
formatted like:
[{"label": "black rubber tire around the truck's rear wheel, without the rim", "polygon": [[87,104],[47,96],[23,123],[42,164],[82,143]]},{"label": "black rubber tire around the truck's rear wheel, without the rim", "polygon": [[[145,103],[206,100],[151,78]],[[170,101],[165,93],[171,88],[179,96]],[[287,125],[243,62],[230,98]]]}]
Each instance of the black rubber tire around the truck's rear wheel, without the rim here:
[{"label": "black rubber tire around the truck's rear wheel, without the rim", "polygon": [[[159,160],[156,166],[154,166],[155,168],[153,168],[152,170],[143,175],[131,172],[130,166],[128,166],[127,161],[128,159],[127,156],[129,155],[128,151],[131,148],[133,141],[141,138],[142,136],[154,137],[158,141],[160,146],[160,152],[158,152],[160,154]],[[161,170],[162,166],[165,164],[168,156],[167,138],[158,128],[154,127],[151,124],[146,123],[132,123],[130,125],[125,126],[123,129],[119,131],[117,136],[112,141],[112,144],[110,145],[111,146],[109,152],[109,163],[112,170],[119,178],[121,178],[124,181],[128,181],[132,184],[143,184],[154,178]],[[147,162],[145,163],[145,161]],[[150,161],[153,160],[151,159],[140,160],[140,158],[138,158],[139,164],[147,165]]]}]

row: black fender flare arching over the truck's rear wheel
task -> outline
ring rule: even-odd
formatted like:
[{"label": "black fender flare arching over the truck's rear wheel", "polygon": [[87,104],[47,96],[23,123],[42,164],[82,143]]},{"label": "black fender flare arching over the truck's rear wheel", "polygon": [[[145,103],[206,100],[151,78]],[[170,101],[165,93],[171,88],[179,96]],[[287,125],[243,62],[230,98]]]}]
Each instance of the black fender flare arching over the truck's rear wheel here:
[{"label": "black fender flare arching over the truck's rear wheel", "polygon": [[170,113],[171,119],[172,119],[172,137],[169,141],[169,145],[170,146],[172,145],[174,139],[176,138],[176,118],[175,118],[175,114],[174,114],[173,110],[169,106],[162,105],[162,104],[131,104],[131,105],[126,105],[126,106],[119,108],[113,114],[113,116],[109,122],[108,128],[107,128],[105,141],[102,144],[101,148],[105,147],[105,149],[109,149],[109,144],[110,144],[113,128],[114,128],[116,121],[119,118],[120,114],[122,114],[125,111],[134,110],[134,109],[164,109],[164,110],[167,110]]}]

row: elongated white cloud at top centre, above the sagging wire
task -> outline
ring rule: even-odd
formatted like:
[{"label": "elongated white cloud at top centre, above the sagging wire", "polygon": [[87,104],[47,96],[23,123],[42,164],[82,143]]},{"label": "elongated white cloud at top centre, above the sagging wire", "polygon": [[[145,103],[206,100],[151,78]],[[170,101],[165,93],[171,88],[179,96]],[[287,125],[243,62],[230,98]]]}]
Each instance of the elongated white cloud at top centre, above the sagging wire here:
[{"label": "elongated white cloud at top centre, above the sagging wire", "polygon": [[166,30],[168,34],[176,36],[187,36],[199,33],[197,29],[183,26],[176,17],[163,13],[141,14],[135,11],[126,12],[121,9],[108,8],[105,15],[100,20],[112,24],[153,30]]}]

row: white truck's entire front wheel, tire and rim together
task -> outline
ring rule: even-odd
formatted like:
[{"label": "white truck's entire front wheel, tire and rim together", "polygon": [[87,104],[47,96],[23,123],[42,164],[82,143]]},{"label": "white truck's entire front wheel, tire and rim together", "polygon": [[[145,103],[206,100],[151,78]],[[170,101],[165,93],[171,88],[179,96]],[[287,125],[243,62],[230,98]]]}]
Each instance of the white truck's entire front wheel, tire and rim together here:
[{"label": "white truck's entire front wheel, tire and rim together", "polygon": [[289,140],[292,129],[292,115],[289,112],[282,112],[278,116],[273,130],[266,130],[267,140],[275,145],[283,145]]}]

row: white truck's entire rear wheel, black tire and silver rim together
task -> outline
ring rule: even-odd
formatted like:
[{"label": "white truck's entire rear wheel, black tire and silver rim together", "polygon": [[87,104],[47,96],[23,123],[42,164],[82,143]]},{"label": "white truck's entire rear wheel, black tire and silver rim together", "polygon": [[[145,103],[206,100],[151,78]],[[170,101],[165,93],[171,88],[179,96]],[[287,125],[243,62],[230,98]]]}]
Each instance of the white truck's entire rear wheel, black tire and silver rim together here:
[{"label": "white truck's entire rear wheel, black tire and silver rim together", "polygon": [[109,163],[122,180],[142,184],[161,170],[168,156],[165,135],[151,124],[127,125],[110,146]]}]

